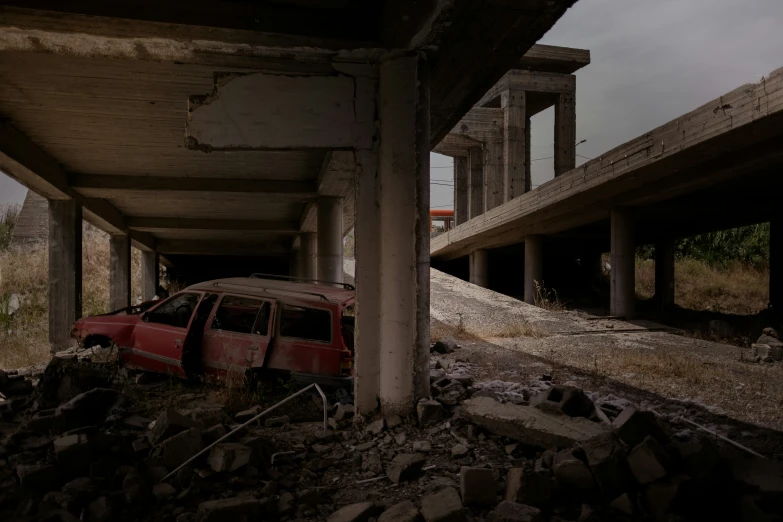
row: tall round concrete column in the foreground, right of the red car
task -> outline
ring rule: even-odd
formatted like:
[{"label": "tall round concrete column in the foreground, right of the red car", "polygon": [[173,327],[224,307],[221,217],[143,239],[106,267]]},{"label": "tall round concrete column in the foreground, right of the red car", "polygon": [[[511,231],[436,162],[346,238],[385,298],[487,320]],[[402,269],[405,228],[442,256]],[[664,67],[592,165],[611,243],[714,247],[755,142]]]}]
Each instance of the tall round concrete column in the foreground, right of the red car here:
[{"label": "tall round concrete column in the foreground, right of the red car", "polygon": [[380,71],[380,403],[409,415],[429,396],[430,115],[424,55]]}]

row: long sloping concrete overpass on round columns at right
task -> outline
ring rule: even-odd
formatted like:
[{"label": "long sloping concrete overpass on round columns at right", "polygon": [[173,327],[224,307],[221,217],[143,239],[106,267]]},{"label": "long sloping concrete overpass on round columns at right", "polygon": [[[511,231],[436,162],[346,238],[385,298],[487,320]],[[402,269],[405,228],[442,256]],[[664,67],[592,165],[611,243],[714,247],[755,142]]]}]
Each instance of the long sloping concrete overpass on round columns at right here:
[{"label": "long sloping concrete overpass on round columns at right", "polygon": [[[506,77],[519,76],[512,71]],[[783,69],[578,168],[571,163],[566,172],[556,162],[553,180],[535,190],[525,185],[521,194],[516,193],[513,176],[508,173],[520,166],[527,172],[525,163],[508,150],[500,156],[505,177],[479,155],[492,150],[492,142],[477,142],[475,163],[468,154],[466,164],[464,150],[448,150],[449,144],[464,139],[464,131],[474,125],[477,113],[490,110],[486,102],[497,89],[482,98],[435,149],[456,156],[455,205],[462,220],[458,217],[456,228],[432,240],[433,263],[469,273],[470,279],[482,286],[491,285],[491,274],[513,278],[521,272],[519,286],[523,288],[512,292],[523,291],[525,300],[532,303],[535,282],[547,281],[562,271],[557,262],[549,262],[547,250],[578,260],[579,266],[571,264],[571,270],[584,272],[587,278],[600,267],[601,253],[610,251],[611,313],[632,317],[636,245],[656,244],[656,295],[665,307],[674,302],[674,239],[770,221],[770,303],[783,308],[783,219],[779,210],[783,193]],[[508,125],[508,112],[505,120],[500,113],[495,118],[496,128],[502,121]],[[555,157],[570,147],[571,156],[566,160],[572,161],[573,133],[565,130],[561,135],[568,137],[555,144]],[[560,161],[562,164],[563,159]],[[466,171],[470,172],[469,183],[464,181]],[[500,200],[491,195],[493,192],[505,197]],[[460,213],[465,202],[468,211]],[[523,249],[517,248],[521,244]],[[491,267],[493,253],[498,261],[495,267]],[[466,269],[468,257],[470,268]]]}]

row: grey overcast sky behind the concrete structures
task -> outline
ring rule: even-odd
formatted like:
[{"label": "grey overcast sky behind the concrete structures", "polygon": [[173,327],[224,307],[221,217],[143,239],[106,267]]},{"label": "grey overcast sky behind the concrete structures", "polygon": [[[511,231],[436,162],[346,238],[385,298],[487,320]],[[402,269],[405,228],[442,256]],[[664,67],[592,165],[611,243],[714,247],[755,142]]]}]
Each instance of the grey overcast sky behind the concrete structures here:
[{"label": "grey overcast sky behind the concrete structures", "polygon": [[[577,165],[783,66],[783,0],[579,0],[541,40],[590,49],[577,72]],[[532,120],[533,186],[552,178],[554,113]],[[432,155],[432,206],[451,208]],[[443,183],[443,182],[441,182]],[[26,189],[0,174],[0,204]]]}]

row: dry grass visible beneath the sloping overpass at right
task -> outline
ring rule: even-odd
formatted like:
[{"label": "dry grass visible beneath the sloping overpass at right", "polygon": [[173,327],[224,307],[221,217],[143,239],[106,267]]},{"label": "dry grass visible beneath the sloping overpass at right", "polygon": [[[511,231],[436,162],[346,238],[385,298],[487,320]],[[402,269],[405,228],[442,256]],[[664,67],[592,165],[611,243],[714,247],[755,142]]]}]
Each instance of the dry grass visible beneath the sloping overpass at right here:
[{"label": "dry grass visible beneath the sloping overpass at right", "polygon": [[[753,315],[767,308],[769,271],[741,263],[711,267],[694,259],[674,266],[675,302],[691,310]],[[655,293],[655,262],[636,261],[636,293],[649,299]]]}]

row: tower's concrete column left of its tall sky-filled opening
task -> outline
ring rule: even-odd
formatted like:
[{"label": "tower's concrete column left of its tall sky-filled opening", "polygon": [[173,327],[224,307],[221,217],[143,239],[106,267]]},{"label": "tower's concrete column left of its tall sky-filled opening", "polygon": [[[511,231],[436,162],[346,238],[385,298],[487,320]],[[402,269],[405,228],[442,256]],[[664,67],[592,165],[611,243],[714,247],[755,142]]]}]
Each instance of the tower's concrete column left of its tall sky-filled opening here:
[{"label": "tower's concrete column left of its tall sky-filled opening", "polygon": [[503,201],[528,190],[525,91],[509,88],[500,96],[503,108]]}]

